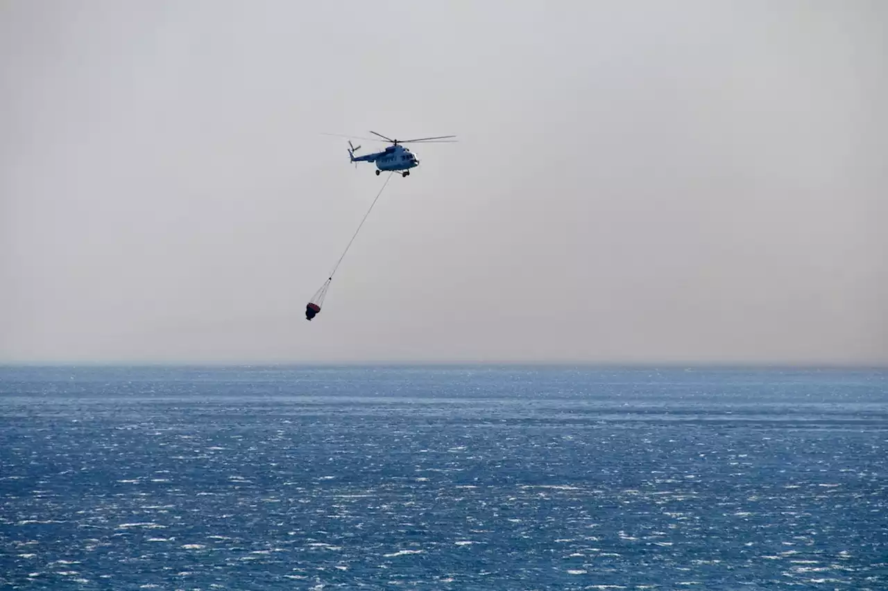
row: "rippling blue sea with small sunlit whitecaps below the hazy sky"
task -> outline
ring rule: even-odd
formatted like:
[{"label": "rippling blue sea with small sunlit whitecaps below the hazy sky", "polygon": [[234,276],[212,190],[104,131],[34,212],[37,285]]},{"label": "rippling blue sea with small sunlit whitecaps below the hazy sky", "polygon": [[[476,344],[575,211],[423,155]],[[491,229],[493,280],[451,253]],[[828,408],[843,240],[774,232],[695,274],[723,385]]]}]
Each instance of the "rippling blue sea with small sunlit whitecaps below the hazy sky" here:
[{"label": "rippling blue sea with small sunlit whitecaps below the hazy sky", "polygon": [[888,589],[888,373],[0,368],[3,589]]}]

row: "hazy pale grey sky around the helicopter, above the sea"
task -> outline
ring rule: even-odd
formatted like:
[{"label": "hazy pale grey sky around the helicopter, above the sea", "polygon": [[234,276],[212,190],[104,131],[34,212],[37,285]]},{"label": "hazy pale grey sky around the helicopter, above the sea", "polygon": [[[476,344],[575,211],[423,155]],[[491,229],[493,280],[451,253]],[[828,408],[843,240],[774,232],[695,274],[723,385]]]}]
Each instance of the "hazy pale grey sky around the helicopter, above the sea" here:
[{"label": "hazy pale grey sky around the helicopter, above the sea", "polygon": [[886,106],[883,0],[4,0],[0,361],[888,364]]}]

